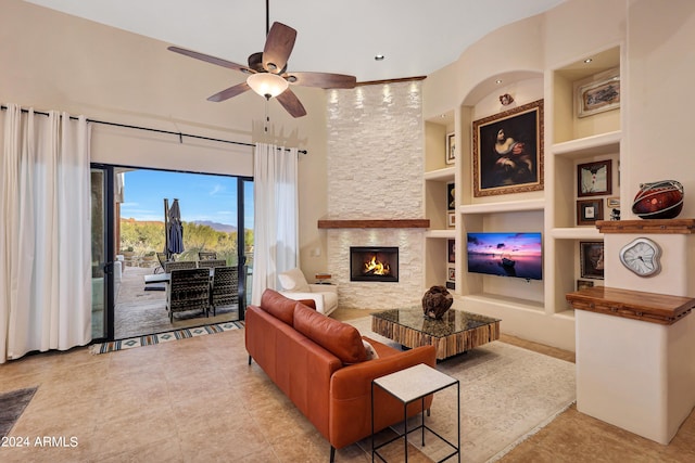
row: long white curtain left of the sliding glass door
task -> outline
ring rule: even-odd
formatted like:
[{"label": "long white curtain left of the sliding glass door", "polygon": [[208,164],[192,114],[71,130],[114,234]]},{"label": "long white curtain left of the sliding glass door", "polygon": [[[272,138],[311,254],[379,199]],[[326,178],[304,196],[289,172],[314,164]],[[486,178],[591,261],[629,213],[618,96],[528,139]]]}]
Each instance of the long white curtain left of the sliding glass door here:
[{"label": "long white curtain left of the sliding glass door", "polygon": [[91,340],[87,120],[14,104],[3,116],[0,363]]}]

